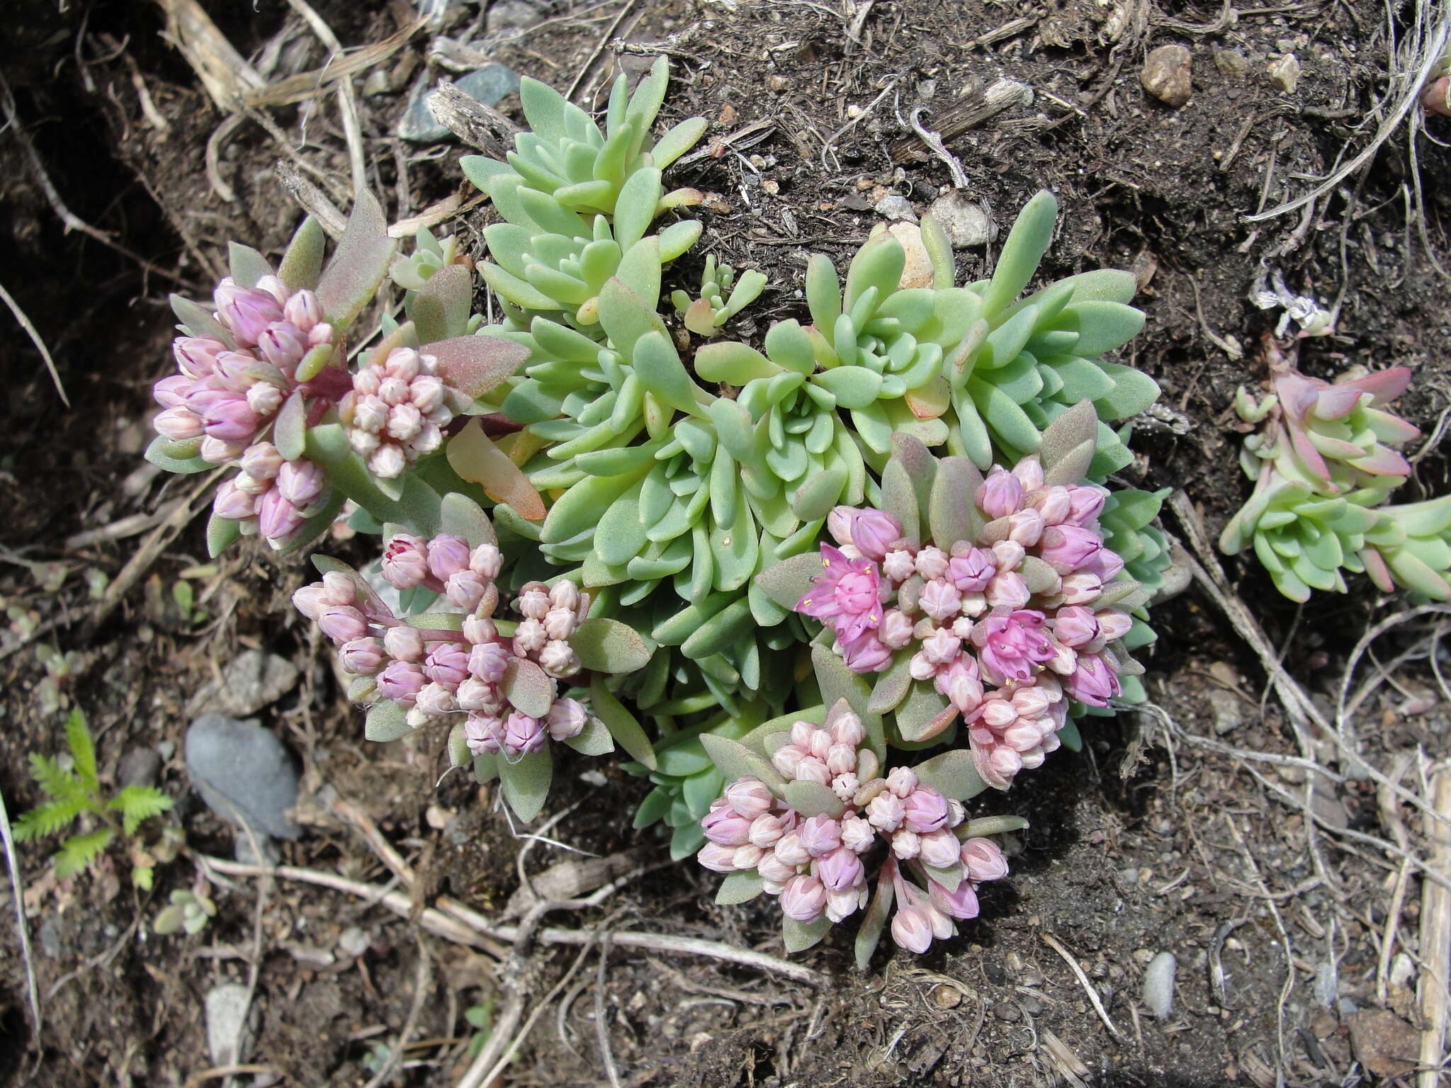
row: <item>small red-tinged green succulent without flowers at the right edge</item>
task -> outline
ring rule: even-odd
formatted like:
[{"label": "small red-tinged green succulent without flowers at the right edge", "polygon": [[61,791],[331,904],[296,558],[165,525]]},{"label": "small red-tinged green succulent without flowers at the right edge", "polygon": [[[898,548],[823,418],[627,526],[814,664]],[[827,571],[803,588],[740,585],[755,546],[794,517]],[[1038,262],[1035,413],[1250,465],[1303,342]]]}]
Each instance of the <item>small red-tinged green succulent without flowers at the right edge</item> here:
[{"label": "small red-tinged green succulent without flowers at the right edge", "polygon": [[1386,411],[1410,384],[1406,367],[1335,383],[1307,377],[1270,345],[1270,392],[1244,387],[1235,405],[1258,431],[1239,463],[1254,495],[1230,519],[1220,548],[1252,547],[1291,601],[1315,589],[1347,590],[1344,572],[1365,573],[1384,592],[1397,585],[1451,599],[1451,496],[1386,505],[1410,474],[1393,447],[1421,432]]}]

